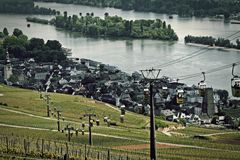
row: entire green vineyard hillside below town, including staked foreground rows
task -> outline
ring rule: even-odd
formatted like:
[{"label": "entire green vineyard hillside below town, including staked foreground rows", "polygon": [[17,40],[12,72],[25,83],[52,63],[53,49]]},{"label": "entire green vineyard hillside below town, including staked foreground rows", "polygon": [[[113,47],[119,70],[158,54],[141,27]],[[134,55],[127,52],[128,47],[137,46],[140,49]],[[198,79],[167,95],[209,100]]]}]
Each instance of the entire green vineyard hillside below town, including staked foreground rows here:
[{"label": "entire green vineyard hillside below town, including staked foreground rows", "polygon": [[[61,129],[70,125],[81,130],[81,124],[86,123],[87,119],[79,118],[85,113],[94,113],[99,118],[100,125],[92,128],[93,146],[90,149],[91,152],[87,149],[89,159],[107,159],[109,155],[111,159],[148,159],[149,118],[147,116],[127,112],[125,122],[120,123],[118,108],[80,96],[55,93],[50,95],[52,101],[50,108],[60,109],[65,119],[60,122]],[[63,157],[66,153],[64,147],[66,147],[67,137],[64,133],[57,131],[56,117],[46,117],[46,102],[40,99],[38,92],[1,85],[0,103],[2,104],[0,105],[0,137],[2,137],[0,153],[2,155],[41,157],[43,155],[36,146],[41,146],[41,140],[44,140],[45,158]],[[104,116],[110,117],[116,126],[108,127],[104,123]],[[177,126],[175,123],[165,121],[163,123]],[[84,135],[80,132],[77,136],[74,132],[71,143],[67,143],[69,152],[71,151],[70,156],[73,158],[83,159],[85,156],[83,153],[85,153],[85,145],[88,144],[88,127],[86,126],[84,130]],[[191,126],[173,132],[176,134],[168,136],[157,131],[159,159],[240,159],[238,131]],[[195,138],[195,135],[203,135],[206,138]],[[6,138],[8,138],[7,142]],[[18,142],[20,144],[16,148]],[[29,150],[26,150],[27,142],[31,142]],[[46,147],[49,144],[52,149],[47,150]],[[89,148],[89,146],[86,147]]]}]

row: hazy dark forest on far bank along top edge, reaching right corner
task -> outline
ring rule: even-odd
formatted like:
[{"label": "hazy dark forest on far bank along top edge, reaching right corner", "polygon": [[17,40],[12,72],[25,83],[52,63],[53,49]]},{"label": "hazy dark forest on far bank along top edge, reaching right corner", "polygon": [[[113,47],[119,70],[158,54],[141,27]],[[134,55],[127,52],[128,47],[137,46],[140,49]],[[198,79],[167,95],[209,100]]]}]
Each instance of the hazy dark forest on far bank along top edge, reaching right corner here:
[{"label": "hazy dark forest on far bank along top edge, reaching right corner", "polygon": [[215,16],[240,11],[240,0],[35,0],[73,3],[99,7],[115,7],[124,10],[152,11],[179,14],[181,16]]}]

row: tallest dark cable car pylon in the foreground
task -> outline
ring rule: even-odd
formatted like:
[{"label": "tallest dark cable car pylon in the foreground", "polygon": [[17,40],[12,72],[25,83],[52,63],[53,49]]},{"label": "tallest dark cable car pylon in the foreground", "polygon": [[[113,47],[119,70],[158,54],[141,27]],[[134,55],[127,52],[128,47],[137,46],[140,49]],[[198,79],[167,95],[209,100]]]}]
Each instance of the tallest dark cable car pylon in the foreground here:
[{"label": "tallest dark cable car pylon in the foreground", "polygon": [[160,69],[141,70],[141,73],[146,81],[150,84],[150,160],[156,160],[156,135],[155,135],[155,108],[154,108],[154,95],[153,86],[154,82],[158,79]]}]

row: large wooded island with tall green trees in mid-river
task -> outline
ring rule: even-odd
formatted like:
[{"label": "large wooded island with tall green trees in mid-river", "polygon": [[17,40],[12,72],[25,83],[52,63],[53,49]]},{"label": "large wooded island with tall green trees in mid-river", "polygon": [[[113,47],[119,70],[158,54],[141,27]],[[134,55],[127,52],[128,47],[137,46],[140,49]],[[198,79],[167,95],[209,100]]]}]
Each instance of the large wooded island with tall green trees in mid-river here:
[{"label": "large wooded island with tall green trees in mid-river", "polygon": [[108,13],[101,19],[94,17],[94,13],[68,16],[67,12],[64,12],[63,16],[56,16],[50,23],[84,36],[178,40],[171,25],[160,19],[129,21],[118,16],[109,16]]}]

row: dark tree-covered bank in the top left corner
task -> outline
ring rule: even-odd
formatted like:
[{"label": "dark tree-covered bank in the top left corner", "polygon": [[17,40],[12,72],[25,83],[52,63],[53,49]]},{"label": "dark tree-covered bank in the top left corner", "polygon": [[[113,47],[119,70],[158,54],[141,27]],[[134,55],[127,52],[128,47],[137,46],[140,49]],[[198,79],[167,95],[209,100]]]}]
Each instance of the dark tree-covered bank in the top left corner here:
[{"label": "dark tree-covered bank in the top left corner", "polygon": [[33,0],[0,0],[0,13],[18,14],[60,14],[56,10],[34,6]]}]

